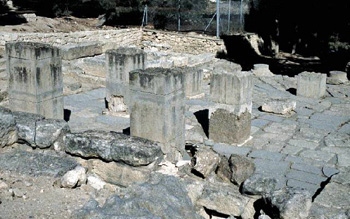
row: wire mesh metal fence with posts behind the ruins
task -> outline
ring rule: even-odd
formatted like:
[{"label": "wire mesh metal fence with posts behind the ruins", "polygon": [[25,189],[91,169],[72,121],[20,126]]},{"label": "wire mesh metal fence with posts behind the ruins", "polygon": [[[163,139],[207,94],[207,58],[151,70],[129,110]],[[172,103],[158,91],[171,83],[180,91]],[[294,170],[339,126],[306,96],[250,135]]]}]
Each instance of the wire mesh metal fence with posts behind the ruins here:
[{"label": "wire mesh metal fence with posts behind the ruins", "polygon": [[248,12],[248,0],[213,0],[203,7],[191,9],[184,7],[178,0],[176,5],[145,5],[142,26],[151,25],[156,29],[178,32],[202,32],[219,37],[244,31],[244,16]]}]

